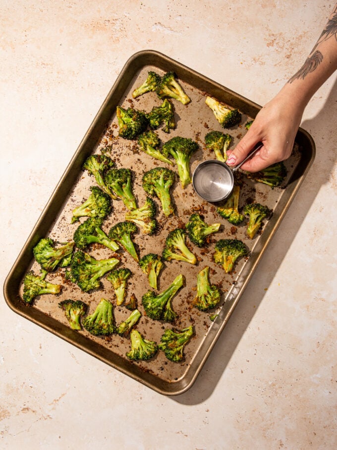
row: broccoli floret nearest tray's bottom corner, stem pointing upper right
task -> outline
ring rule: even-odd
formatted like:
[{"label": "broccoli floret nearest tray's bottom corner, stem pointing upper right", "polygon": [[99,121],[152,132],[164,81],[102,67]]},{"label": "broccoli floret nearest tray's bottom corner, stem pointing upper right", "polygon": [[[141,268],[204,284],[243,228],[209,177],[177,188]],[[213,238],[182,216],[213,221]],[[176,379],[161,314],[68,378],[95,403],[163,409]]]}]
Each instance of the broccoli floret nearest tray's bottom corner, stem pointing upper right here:
[{"label": "broccoli floret nearest tray's bottom corner, stem pointing upper right", "polygon": [[158,348],[163,350],[165,356],[174,363],[182,361],[183,350],[187,342],[193,336],[193,326],[190,325],[182,330],[166,329],[161,337]]}]

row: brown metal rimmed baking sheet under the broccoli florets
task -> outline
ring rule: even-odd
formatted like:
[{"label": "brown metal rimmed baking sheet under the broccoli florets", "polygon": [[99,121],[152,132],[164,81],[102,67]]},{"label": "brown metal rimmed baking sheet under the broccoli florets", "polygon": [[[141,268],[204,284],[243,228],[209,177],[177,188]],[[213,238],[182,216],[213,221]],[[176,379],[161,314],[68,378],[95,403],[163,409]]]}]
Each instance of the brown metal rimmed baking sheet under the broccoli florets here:
[{"label": "brown metal rimmed baking sheet under the broccoli florets", "polygon": [[[204,147],[205,134],[212,129],[223,130],[216,121],[213,112],[205,104],[205,95],[214,96],[230,107],[238,108],[242,113],[241,125],[226,131],[233,136],[232,146],[246,132],[244,128],[246,121],[253,119],[260,109],[259,105],[163,54],[155,51],[142,51],[133,55],[124,65],[11,268],[4,284],[4,296],[8,306],[17,314],[48,329],[140,383],[162,394],[177,395],[192,386],[212,351],[313,162],[315,145],[311,136],[305,130],[299,129],[296,136],[296,150],[285,161],[288,175],[280,188],[272,190],[261,183],[253,182],[247,178],[244,179],[240,207],[249,200],[267,204],[269,208],[273,209],[272,217],[265,221],[262,232],[253,240],[249,240],[245,236],[246,222],[238,227],[233,227],[217,214],[214,204],[203,201],[194,193],[191,184],[182,190],[177,178],[172,191],[175,215],[169,218],[165,217],[161,213],[160,204],[157,202],[157,219],[159,220],[160,231],[155,236],[146,236],[141,231],[135,236],[140,255],[143,256],[149,252],[161,253],[169,230],[186,223],[193,212],[202,213],[206,222],[221,222],[222,226],[204,249],[191,246],[192,251],[198,257],[197,265],[193,266],[178,261],[166,263],[166,267],[159,278],[159,291],[164,290],[179,273],[182,273],[186,279],[185,286],[178,291],[172,302],[173,310],[178,314],[178,318],[172,324],[152,321],[144,315],[141,297],[149,289],[147,277],[128,254],[118,251],[121,257],[120,266],[129,267],[133,272],[129,279],[127,296],[129,297],[131,293],[136,295],[139,309],[143,313],[137,329],[147,339],[157,342],[160,341],[160,337],[167,327],[173,326],[179,329],[193,324],[195,330],[194,337],[185,347],[185,358],[182,363],[170,362],[161,351],[157,353],[155,358],[147,362],[131,362],[125,356],[130,348],[129,339],[121,338],[118,335],[112,335],[108,338],[95,337],[86,330],[74,331],[69,327],[64,313],[58,308],[58,302],[69,298],[79,299],[87,303],[90,313],[102,297],[111,300],[114,304],[112,285],[105,278],[102,279],[101,289],[83,293],[76,285],[66,281],[64,269],[59,269],[55,273],[48,274],[47,279],[63,285],[61,294],[40,296],[32,306],[24,305],[20,296],[22,294],[22,279],[25,273],[30,269],[39,273],[39,266],[34,262],[32,255],[32,249],[36,243],[47,236],[58,242],[72,240],[78,223],[70,225],[71,212],[75,206],[88,197],[89,187],[96,184],[94,178],[82,170],[82,164],[90,154],[100,153],[103,149],[109,148],[116,167],[128,167],[134,172],[134,193],[138,205],[144,203],[146,194],[141,186],[142,174],[152,167],[165,164],[142,153],[137,148],[135,141],[118,137],[115,112],[117,105],[134,106],[136,109],[149,112],[153,106],[159,106],[162,103],[154,92],[132,99],[131,92],[146,78],[149,70],[157,71],[160,74],[173,70],[191,98],[191,102],[186,106],[173,100],[176,129],[171,130],[169,134],[159,130],[159,135],[163,142],[173,136],[180,135],[190,137],[199,143],[199,150],[191,159],[192,172],[199,162],[205,159],[214,159],[214,155]],[[172,169],[176,171],[176,167]],[[157,200],[155,199],[155,201]],[[105,231],[108,231],[114,223],[124,220],[125,207],[123,203],[113,200],[112,205],[112,213],[103,225]],[[222,267],[213,262],[212,254],[217,240],[233,237],[244,241],[250,254],[249,257],[238,260],[231,274],[225,274]],[[111,257],[111,251],[98,246],[91,248],[88,252],[97,258]],[[209,318],[211,312],[203,313],[192,307],[192,301],[196,295],[197,273],[206,265],[211,267],[211,282],[219,284],[223,291],[218,308],[211,311],[218,314],[215,321],[211,321]],[[124,320],[128,314],[129,311],[123,306],[114,308],[117,323]]]}]

